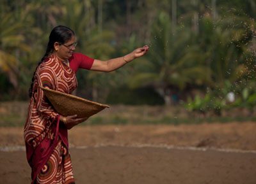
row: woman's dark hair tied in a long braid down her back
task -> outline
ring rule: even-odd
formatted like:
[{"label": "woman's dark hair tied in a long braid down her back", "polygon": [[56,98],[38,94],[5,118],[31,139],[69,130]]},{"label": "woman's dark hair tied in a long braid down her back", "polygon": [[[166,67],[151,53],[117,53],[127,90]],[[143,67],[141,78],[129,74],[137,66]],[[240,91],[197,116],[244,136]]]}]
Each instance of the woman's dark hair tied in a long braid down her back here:
[{"label": "woman's dark hair tied in a long braid down her back", "polygon": [[[47,49],[44,54],[44,57],[42,57],[40,62],[38,62],[38,66],[40,66],[40,64],[42,62],[44,62],[44,60],[47,59],[47,57],[49,57],[54,52],[54,43],[55,42],[64,44],[67,41],[69,41],[72,38],[72,36],[74,36],[74,35],[75,35],[74,31],[72,31],[72,29],[70,29],[64,25],[58,25],[57,27],[54,27],[54,29],[52,29],[52,31],[50,33],[49,42],[47,44]],[[36,69],[38,68],[38,66],[36,66]],[[29,94],[28,94],[29,97],[32,97],[32,94],[33,94],[33,85],[34,85],[34,81],[35,81],[36,69],[33,74],[33,78],[31,80],[31,85],[30,85]]]}]

